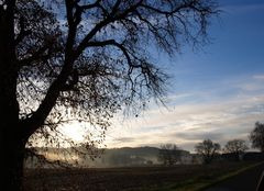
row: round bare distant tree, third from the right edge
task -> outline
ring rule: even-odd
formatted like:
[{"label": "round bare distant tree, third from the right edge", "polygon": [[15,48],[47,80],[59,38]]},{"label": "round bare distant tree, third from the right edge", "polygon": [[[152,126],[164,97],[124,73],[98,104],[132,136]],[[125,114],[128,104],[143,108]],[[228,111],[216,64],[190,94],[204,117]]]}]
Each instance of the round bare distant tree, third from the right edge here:
[{"label": "round bare distant tree, third from the right edge", "polygon": [[210,164],[221,149],[221,146],[218,143],[213,143],[211,139],[205,139],[195,145],[195,149],[197,154],[201,155],[204,164]]}]

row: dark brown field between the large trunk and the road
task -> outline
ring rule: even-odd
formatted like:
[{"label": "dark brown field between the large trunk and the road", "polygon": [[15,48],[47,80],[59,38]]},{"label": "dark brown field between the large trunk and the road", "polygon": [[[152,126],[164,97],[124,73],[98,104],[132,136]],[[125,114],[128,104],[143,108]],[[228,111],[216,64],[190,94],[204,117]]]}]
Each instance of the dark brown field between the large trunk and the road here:
[{"label": "dark brown field between the large trunk and the road", "polygon": [[[26,169],[25,191],[133,191],[173,190],[216,179],[244,168],[249,162],[219,162],[210,166],[131,167],[103,169]],[[170,189],[172,190],[172,189]]]}]

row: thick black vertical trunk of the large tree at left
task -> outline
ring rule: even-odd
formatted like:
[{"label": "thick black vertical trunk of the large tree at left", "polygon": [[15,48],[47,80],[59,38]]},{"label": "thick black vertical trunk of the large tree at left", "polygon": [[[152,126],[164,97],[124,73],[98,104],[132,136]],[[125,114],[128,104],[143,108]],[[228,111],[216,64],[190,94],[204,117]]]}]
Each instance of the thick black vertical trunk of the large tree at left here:
[{"label": "thick black vertical trunk of the large tree at left", "polygon": [[26,138],[19,121],[18,60],[14,45],[14,0],[0,7],[0,176],[1,191],[20,191]]}]

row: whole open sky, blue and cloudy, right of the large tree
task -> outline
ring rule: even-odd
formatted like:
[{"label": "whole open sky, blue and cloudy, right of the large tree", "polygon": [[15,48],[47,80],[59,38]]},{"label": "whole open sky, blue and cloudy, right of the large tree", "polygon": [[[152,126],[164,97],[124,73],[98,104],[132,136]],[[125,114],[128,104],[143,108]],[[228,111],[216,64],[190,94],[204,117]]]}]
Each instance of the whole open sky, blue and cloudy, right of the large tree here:
[{"label": "whole open sky, blue and cloudy, right of the large tree", "polygon": [[210,44],[158,63],[172,77],[166,108],[150,105],[138,117],[117,117],[107,147],[173,143],[194,151],[205,138],[222,146],[249,143],[256,121],[264,122],[264,1],[219,0],[208,29]]}]

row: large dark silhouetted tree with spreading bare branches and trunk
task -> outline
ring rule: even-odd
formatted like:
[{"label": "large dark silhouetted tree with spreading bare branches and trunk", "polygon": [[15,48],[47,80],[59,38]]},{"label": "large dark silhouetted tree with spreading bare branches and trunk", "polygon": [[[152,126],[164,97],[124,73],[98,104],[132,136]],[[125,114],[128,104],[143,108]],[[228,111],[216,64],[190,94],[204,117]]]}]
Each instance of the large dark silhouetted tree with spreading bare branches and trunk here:
[{"label": "large dark silhouetted tree with spreading bare branches and trunk", "polygon": [[100,130],[98,142],[87,135],[89,150],[117,111],[160,98],[166,75],[150,46],[172,56],[201,45],[216,9],[208,0],[0,0],[1,190],[22,189],[25,145],[55,142],[58,124]]}]

